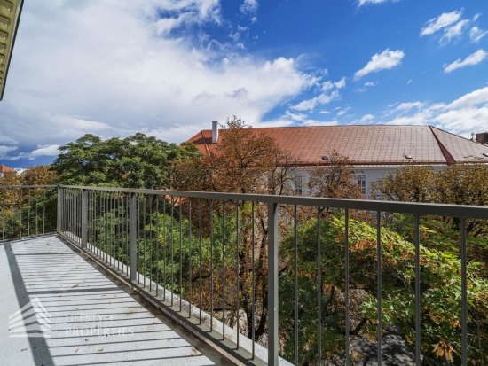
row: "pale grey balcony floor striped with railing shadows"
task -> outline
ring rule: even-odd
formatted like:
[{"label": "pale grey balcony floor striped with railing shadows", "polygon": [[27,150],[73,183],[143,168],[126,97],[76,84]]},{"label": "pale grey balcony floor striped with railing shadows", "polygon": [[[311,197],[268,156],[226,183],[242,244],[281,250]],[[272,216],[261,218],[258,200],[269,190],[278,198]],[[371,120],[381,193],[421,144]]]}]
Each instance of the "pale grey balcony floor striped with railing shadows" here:
[{"label": "pale grey balcony floor striped with railing shadows", "polygon": [[[96,267],[55,236],[1,243],[0,363],[215,364],[201,354],[198,342],[182,338],[182,331],[171,329],[135,299],[138,295],[132,297],[125,284]],[[38,310],[33,313],[29,304]],[[22,314],[14,315],[21,308]],[[41,334],[37,324],[43,316],[51,331],[47,327]],[[38,331],[26,331],[22,324]]]}]

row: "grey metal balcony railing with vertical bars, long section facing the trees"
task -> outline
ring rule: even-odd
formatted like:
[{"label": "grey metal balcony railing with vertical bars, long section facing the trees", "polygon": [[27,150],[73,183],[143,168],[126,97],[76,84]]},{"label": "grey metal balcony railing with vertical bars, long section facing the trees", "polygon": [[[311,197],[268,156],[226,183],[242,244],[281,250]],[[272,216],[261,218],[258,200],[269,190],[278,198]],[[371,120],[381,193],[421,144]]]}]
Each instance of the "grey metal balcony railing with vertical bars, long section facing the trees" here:
[{"label": "grey metal balcony railing with vertical bars, long section facing the trees", "polygon": [[[473,278],[468,281],[466,228],[467,222],[488,220],[488,207],[106,187],[59,186],[58,190],[56,227],[62,237],[125,276],[162,310],[249,364],[278,365],[279,356],[295,364],[302,364],[306,357],[309,364],[328,364],[331,360],[326,359],[324,349],[331,342],[325,325],[332,322],[329,319],[343,329],[342,364],[355,364],[351,342],[358,339],[358,332],[350,328],[361,323],[358,316],[366,316],[357,303],[368,297],[375,298],[375,323],[374,319],[369,322],[376,329],[373,343],[382,360],[385,328],[394,325],[386,323],[391,316],[382,309],[384,286],[390,285],[385,268],[390,266],[389,250],[395,249],[385,248],[390,245],[390,226],[401,221],[394,214],[404,214],[412,218],[413,228],[412,238],[401,241],[404,254],[408,257],[408,251],[412,252],[413,275],[407,279],[412,282],[409,299],[414,300],[410,341],[415,363],[421,365],[426,349],[421,343],[421,301],[426,296],[422,276],[429,270],[422,254],[426,253],[422,241],[427,235],[422,222],[431,216],[445,221],[454,218],[453,227],[459,229],[454,241],[459,245],[460,271],[453,276],[460,277],[460,298],[456,300],[460,314],[453,318],[459,317],[459,326],[454,328],[460,342],[453,354],[462,365],[483,364],[482,347],[476,348],[481,345],[479,331],[477,339],[468,331],[468,324],[472,326],[468,287]],[[336,228],[340,235],[329,240],[330,222],[339,222],[342,229]],[[375,238],[358,241],[356,228],[361,222],[370,234],[375,232]],[[311,233],[308,237],[307,232]],[[357,255],[363,242],[370,245],[370,261],[365,264],[369,267],[351,273],[353,262],[364,260]],[[336,259],[337,247],[343,280],[336,286],[341,289],[333,290],[341,294],[331,306],[332,298],[325,293],[331,267],[327,263]],[[285,285],[286,274],[290,274],[289,286]],[[370,276],[375,284],[366,290],[351,288],[351,276]],[[316,284],[310,309],[304,309],[311,299],[303,298],[301,282]],[[280,296],[286,300],[280,302]],[[291,315],[281,315],[288,316],[290,323],[279,323],[280,310],[287,306]],[[316,331],[307,335],[303,333],[304,313],[312,310],[317,311]],[[292,351],[287,352],[287,347]],[[336,346],[335,350],[339,353]],[[452,354],[445,354],[445,359],[449,356]]]}]

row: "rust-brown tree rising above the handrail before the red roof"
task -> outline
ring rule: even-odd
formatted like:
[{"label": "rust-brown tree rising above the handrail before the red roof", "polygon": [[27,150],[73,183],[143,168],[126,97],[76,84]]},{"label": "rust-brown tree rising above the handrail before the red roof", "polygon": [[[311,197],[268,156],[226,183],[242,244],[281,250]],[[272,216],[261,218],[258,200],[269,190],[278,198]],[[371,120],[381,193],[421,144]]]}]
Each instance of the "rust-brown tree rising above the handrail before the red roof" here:
[{"label": "rust-brown tree rising above the handrail before the red roof", "polygon": [[[211,146],[209,154],[193,155],[177,160],[171,169],[173,187],[184,191],[217,191],[254,194],[290,194],[295,176],[295,157],[281,149],[271,136],[256,131],[242,119],[228,119],[219,142]],[[193,206],[197,202],[190,199]],[[203,203],[209,212],[208,202]],[[246,314],[248,337],[252,334],[252,311],[256,307],[256,339],[260,339],[267,324],[267,206],[239,201],[228,202],[222,210],[222,202],[214,203],[219,215],[236,217],[239,210],[240,243],[233,256],[239,256],[240,309]],[[254,212],[254,216],[253,216]],[[187,212],[185,212],[187,214]],[[193,211],[193,214],[196,214]],[[253,221],[254,217],[254,221]],[[198,222],[194,217],[193,222]],[[204,222],[209,227],[209,222]],[[253,237],[254,227],[254,237]],[[289,224],[280,222],[280,230],[287,232]],[[209,232],[205,231],[209,236]],[[253,252],[255,261],[253,263]],[[251,288],[251,269],[255,268],[255,291]],[[236,269],[226,269],[228,281],[236,282]],[[235,298],[234,298],[235,299]],[[234,300],[232,306],[236,308]],[[235,323],[235,312],[229,312],[228,323]]]}]

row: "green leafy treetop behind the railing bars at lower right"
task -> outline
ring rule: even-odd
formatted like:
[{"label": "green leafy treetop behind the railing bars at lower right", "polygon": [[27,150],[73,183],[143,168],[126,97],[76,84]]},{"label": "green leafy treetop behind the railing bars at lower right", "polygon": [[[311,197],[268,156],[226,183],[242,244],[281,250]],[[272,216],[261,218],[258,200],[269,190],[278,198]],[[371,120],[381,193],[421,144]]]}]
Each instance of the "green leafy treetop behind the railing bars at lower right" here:
[{"label": "green leafy treetop behind the railing bars at lower right", "polygon": [[[410,218],[412,221],[412,218]],[[405,217],[398,221],[406,222]],[[421,352],[425,364],[460,362],[460,253],[459,236],[421,226]],[[383,227],[382,239],[382,328],[397,325],[406,346],[414,352],[415,339],[415,247],[410,225]],[[392,230],[404,227],[403,232]],[[299,359],[314,362],[317,357],[317,221],[303,222],[298,229]],[[337,215],[322,221],[320,227],[320,276],[322,291],[322,358],[334,361],[344,357],[345,326],[345,222]],[[350,220],[350,293],[363,295],[358,308],[350,309],[351,334],[374,339],[377,327],[376,229],[365,222]],[[294,360],[295,347],[295,237],[285,238],[284,257],[291,258],[287,273],[280,276],[280,331],[284,356]],[[468,358],[479,360],[488,354],[486,319],[488,281],[479,262],[468,262]],[[483,324],[482,326],[477,326]],[[474,334],[474,336],[473,336]],[[302,339],[303,337],[303,339]],[[354,338],[354,337],[353,337]]]}]

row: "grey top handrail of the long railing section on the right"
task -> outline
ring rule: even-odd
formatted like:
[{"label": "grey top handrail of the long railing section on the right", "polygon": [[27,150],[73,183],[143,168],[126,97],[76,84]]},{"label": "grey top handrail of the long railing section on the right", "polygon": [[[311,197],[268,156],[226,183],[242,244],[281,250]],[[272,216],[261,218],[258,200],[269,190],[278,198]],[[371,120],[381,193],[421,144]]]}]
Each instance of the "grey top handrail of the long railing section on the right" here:
[{"label": "grey top handrail of the long railing section on the right", "polygon": [[488,220],[488,206],[446,205],[420,202],[379,201],[372,199],[325,199],[319,197],[303,196],[275,196],[252,193],[224,193],[206,191],[173,191],[148,190],[117,187],[94,187],[78,185],[59,185],[61,188],[71,188],[93,191],[116,191],[128,193],[164,194],[176,197],[192,197],[200,199],[227,199],[240,201],[254,201],[275,203],[279,205],[298,205],[316,207],[335,207],[351,210],[395,212],[398,214],[420,214],[432,216],[446,216],[456,218],[469,218]]}]

